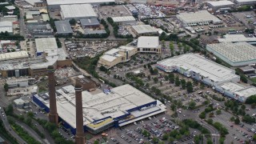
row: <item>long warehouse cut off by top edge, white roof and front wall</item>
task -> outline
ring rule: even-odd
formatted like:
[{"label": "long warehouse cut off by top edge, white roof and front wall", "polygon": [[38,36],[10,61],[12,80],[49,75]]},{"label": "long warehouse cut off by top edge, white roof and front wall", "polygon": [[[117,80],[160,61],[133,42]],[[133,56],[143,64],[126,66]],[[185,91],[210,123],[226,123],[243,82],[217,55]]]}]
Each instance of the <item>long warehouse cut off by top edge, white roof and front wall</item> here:
[{"label": "long warehouse cut off by top edge, white roof and front wall", "polygon": [[59,9],[61,5],[72,5],[72,4],[103,4],[115,2],[115,0],[46,0],[50,9]]}]

